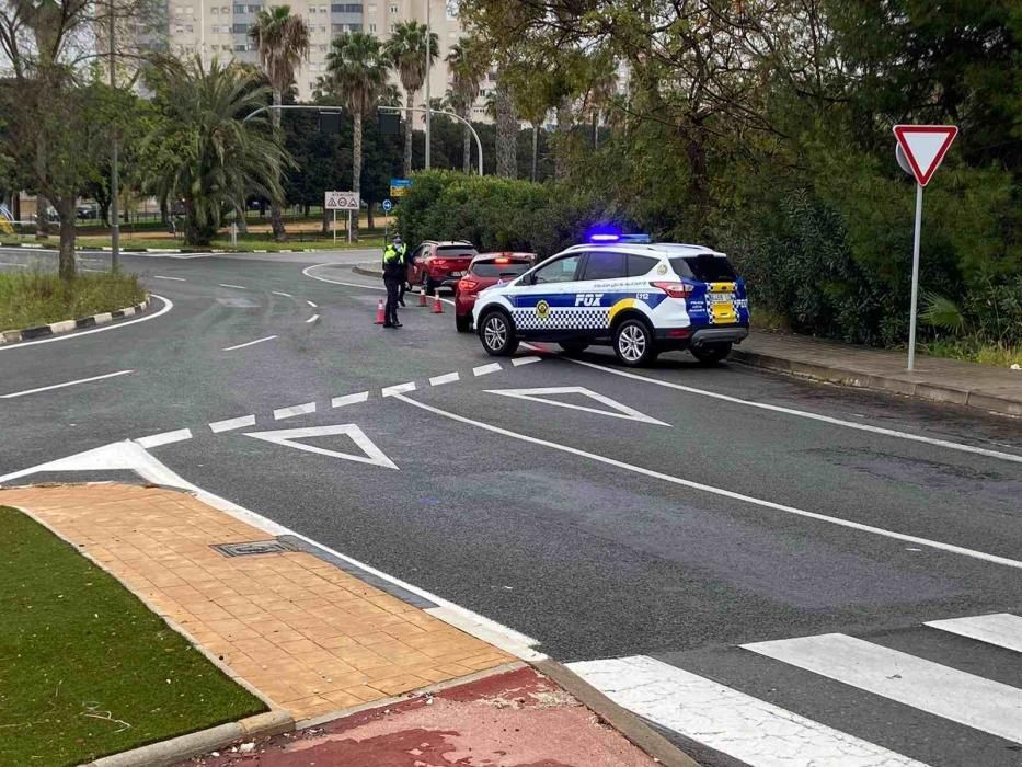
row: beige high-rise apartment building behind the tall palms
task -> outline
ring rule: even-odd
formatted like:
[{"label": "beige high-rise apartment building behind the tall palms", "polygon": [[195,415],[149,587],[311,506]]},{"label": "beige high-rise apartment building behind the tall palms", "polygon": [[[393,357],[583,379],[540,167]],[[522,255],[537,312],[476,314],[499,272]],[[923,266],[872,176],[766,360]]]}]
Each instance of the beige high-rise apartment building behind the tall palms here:
[{"label": "beige high-rise apartment building behind the tall palms", "polygon": [[[386,41],[399,22],[414,19],[425,23],[427,3],[429,28],[436,33],[439,44],[429,90],[433,98],[438,98],[447,92],[449,83],[444,57],[462,35],[455,0],[290,0],[291,12],[306,20],[311,37],[309,58],[297,77],[299,99],[311,99],[317,80],[326,70],[326,54],[334,36],[341,32],[368,32]],[[257,53],[249,39],[249,28],[264,7],[278,4],[284,4],[284,0],[168,0],[170,48],[179,55],[198,54],[206,61],[217,56],[221,60],[229,57],[255,64]],[[487,77],[482,83],[475,118],[485,118],[482,104],[492,88],[492,78]]]}]

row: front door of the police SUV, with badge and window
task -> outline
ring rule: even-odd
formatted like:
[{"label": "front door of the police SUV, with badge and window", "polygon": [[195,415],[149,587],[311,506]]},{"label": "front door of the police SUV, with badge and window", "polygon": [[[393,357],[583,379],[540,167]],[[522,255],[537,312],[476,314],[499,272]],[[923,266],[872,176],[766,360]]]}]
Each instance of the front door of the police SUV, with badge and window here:
[{"label": "front door of the police SUV, with badge and window", "polygon": [[529,274],[528,282],[515,290],[514,320],[521,335],[558,337],[570,329],[583,255],[554,256]]}]

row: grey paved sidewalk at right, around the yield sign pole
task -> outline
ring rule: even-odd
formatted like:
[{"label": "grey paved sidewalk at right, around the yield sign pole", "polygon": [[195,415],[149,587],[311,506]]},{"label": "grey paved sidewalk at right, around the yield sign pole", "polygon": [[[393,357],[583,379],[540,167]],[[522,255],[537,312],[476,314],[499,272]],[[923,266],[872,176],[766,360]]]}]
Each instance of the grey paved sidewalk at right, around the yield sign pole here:
[{"label": "grey paved sidewalk at right, around the yield sign pole", "polygon": [[938,402],[1022,416],[1022,371],[941,357],[850,346],[800,335],[751,333],[731,355],[736,362],[815,380],[881,389]]}]

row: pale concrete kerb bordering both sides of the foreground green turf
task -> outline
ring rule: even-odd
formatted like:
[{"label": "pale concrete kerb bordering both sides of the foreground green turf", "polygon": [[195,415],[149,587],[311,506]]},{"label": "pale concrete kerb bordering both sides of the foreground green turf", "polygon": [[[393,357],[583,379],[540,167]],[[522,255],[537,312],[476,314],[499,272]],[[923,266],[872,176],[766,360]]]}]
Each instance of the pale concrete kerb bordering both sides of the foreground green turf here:
[{"label": "pale concrete kerb bordering both sides of the foreground green turf", "polygon": [[[85,484],[107,483],[89,482]],[[35,522],[37,525],[41,525],[42,527],[49,530],[50,534],[62,540],[68,546],[72,547],[79,554],[83,556],[90,562],[92,562],[96,568],[115,579],[118,583],[120,583],[122,586],[130,592],[135,598],[141,602],[149,611],[159,616],[170,629],[182,634],[192,644],[192,646],[203,653],[203,655],[210,663],[213,663],[217,668],[226,674],[234,684],[243,687],[245,690],[262,700],[269,709],[269,711],[256,713],[252,717],[245,717],[244,719],[241,719],[237,722],[217,724],[206,730],[185,733],[184,735],[177,735],[176,737],[160,741],[159,743],[150,743],[149,745],[131,748],[130,751],[120,752],[119,754],[103,756],[99,759],[87,763],[85,767],[157,767],[162,765],[173,765],[193,756],[199,756],[210,751],[230,745],[240,739],[271,737],[273,735],[279,735],[283,732],[290,732],[295,730],[295,718],[290,714],[289,711],[275,708],[273,701],[266,698],[245,679],[237,676],[227,666],[227,664],[220,661],[216,655],[213,655],[208,650],[199,645],[195,638],[192,637],[180,623],[177,623],[177,621],[164,615],[145,596],[131,589],[114,573],[110,572],[110,570],[103,566],[103,563],[97,561],[88,549],[78,546],[73,541],[65,538],[57,529],[47,524],[46,520],[41,519],[31,511],[21,506],[14,506],[14,508]]]}]

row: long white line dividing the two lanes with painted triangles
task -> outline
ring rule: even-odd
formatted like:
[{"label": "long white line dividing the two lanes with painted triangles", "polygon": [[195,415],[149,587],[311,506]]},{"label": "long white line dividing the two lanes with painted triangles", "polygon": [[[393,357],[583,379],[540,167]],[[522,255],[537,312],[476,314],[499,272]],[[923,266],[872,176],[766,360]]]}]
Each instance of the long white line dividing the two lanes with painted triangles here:
[{"label": "long white line dividing the two lanes with painted triangles", "polygon": [[608,466],[613,466],[619,469],[624,469],[625,471],[634,471],[638,474],[643,474],[644,477],[652,477],[654,479],[663,480],[664,482],[670,482],[671,484],[679,484],[685,488],[692,488],[693,490],[701,490],[707,493],[712,493],[714,495],[722,495],[724,497],[734,499],[735,501],[744,501],[746,503],[756,504],[758,506],[763,506],[765,508],[770,508],[777,512],[783,512],[785,514],[793,514],[795,516],[806,517],[808,519],[816,519],[818,522],[827,522],[832,525],[838,525],[840,527],[848,527],[853,530],[860,530],[862,533],[872,533],[874,535],[883,536],[885,538],[892,538],[894,540],[906,541],[909,543],[919,543],[920,546],[928,546],[932,549],[940,549],[941,551],[950,551],[951,553],[961,554],[963,557],[972,557],[973,559],[979,559],[985,562],[992,562],[994,564],[1003,564],[1008,568],[1017,568],[1022,570],[1022,561],[1015,559],[1008,559],[1007,557],[999,557],[998,554],[990,554],[985,551],[976,551],[974,549],[966,549],[961,546],[955,546],[954,543],[944,543],[939,540],[930,540],[929,538],[920,538],[918,536],[910,536],[904,533],[896,533],[894,530],[886,530],[882,527],[873,527],[872,525],[863,525],[862,523],[852,522],[850,519],[841,519],[840,517],[831,517],[826,514],[818,514],[816,512],[807,512],[802,508],[795,508],[794,506],[785,506],[782,503],[774,503],[773,501],[765,501],[762,499],[757,499],[751,495],[745,495],[743,493],[736,493],[732,490],[724,490],[723,488],[714,488],[710,484],[702,484],[701,482],[693,482],[691,480],[681,479],[680,477],[671,477],[670,474],[664,474],[659,471],[654,471],[653,469],[645,469],[641,466],[633,466],[632,463],[625,463],[624,461],[617,460],[615,458],[608,458],[607,456],[600,456],[595,453],[586,453],[585,450],[579,450],[576,447],[569,447],[567,445],[559,445],[558,443],[547,442],[546,439],[540,439],[538,437],[530,437],[527,434],[519,434],[517,432],[512,432],[506,428],[501,428],[499,426],[493,426],[489,423],[482,423],[480,421],[473,421],[472,419],[467,419],[463,415],[458,415],[457,413],[451,413],[446,410],[440,410],[439,408],[434,408],[433,405],[426,404],[425,402],[416,402],[413,399],[404,397],[403,394],[398,394],[397,399],[402,402],[407,402],[409,404],[420,408],[421,410],[429,411],[436,415],[443,415],[444,417],[451,419],[452,421],[459,421],[461,423],[469,424],[470,426],[475,426],[478,428],[486,430],[487,432],[493,432],[494,434],[503,434],[504,436],[512,437],[514,439],[521,439],[523,442],[530,443],[532,445],[542,445],[543,447],[549,447],[554,450],[561,450],[562,453],[570,453],[573,456],[579,456],[582,458],[588,458],[590,460],[599,461],[600,463],[606,463]]}]

